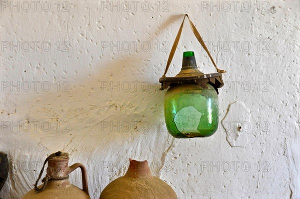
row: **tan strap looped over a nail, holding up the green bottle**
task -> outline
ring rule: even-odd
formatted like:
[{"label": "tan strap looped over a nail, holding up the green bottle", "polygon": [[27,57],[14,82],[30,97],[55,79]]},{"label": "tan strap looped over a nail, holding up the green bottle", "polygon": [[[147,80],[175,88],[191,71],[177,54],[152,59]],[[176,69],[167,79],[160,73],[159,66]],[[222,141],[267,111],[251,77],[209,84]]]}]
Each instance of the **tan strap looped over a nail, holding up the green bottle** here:
[{"label": "tan strap looped over a nail, holding up the green bottle", "polygon": [[171,48],[169,57],[168,57],[168,59],[167,59],[166,67],[165,67],[165,70],[164,70],[164,73],[163,73],[162,77],[165,77],[165,74],[166,74],[166,72],[167,72],[167,69],[168,69],[168,67],[170,66],[171,61],[172,61],[172,59],[173,59],[173,56],[174,56],[176,47],[177,47],[177,45],[178,45],[178,42],[179,42],[179,38],[180,38],[181,32],[182,32],[182,27],[183,27],[183,23],[184,23],[185,16],[187,16],[187,18],[188,18],[189,25],[190,25],[190,27],[191,27],[192,32],[194,33],[194,35],[195,35],[196,38],[198,39],[199,43],[202,45],[203,49],[207,52],[207,54],[208,54],[208,56],[209,56],[211,62],[213,63],[213,65],[214,65],[216,71],[217,71],[217,72],[220,72],[220,73],[225,73],[226,70],[221,70],[221,69],[219,69],[219,68],[216,66],[216,64],[215,64],[215,62],[213,61],[213,59],[212,59],[212,57],[211,57],[211,55],[210,55],[210,53],[209,53],[209,51],[208,51],[208,49],[207,49],[207,47],[206,47],[206,45],[205,45],[205,43],[204,43],[202,37],[200,36],[198,30],[196,29],[196,27],[194,26],[194,24],[191,22],[191,20],[189,19],[188,15],[187,15],[187,14],[184,14],[182,23],[181,23],[181,25],[180,25],[180,27],[179,27],[178,33],[177,33],[177,35],[176,35],[175,41],[174,41],[174,43],[173,43],[173,46],[172,46],[172,48]]}]

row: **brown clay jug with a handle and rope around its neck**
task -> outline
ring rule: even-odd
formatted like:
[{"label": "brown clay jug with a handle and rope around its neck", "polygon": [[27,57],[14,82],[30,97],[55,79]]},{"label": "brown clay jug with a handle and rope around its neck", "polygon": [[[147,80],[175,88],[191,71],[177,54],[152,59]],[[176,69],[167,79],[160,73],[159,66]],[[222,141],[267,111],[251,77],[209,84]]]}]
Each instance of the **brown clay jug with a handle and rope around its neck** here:
[{"label": "brown clay jug with a handle and rope around its neck", "polygon": [[[85,167],[81,163],[68,166],[68,160],[66,152],[58,151],[49,155],[44,161],[34,189],[27,192],[23,198],[89,198]],[[41,180],[43,185],[37,186],[47,161],[47,174]],[[68,174],[78,167],[81,169],[83,190],[71,184],[68,179]]]}]

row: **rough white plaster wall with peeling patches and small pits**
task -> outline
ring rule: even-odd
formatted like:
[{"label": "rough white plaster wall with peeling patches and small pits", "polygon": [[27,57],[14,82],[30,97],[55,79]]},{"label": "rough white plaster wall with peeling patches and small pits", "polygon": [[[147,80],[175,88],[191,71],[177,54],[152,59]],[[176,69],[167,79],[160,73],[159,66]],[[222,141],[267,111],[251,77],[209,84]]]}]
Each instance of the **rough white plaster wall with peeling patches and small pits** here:
[{"label": "rough white plaster wall with peeling patches and small pits", "polygon": [[[86,165],[92,198],[129,157],[179,198],[300,197],[299,1],[0,2],[1,198],[30,190],[58,150]],[[183,13],[227,70],[208,138],[175,139],[163,123],[158,78]],[[185,21],[168,76],[185,50],[215,71]],[[79,171],[70,180],[81,187]]]}]

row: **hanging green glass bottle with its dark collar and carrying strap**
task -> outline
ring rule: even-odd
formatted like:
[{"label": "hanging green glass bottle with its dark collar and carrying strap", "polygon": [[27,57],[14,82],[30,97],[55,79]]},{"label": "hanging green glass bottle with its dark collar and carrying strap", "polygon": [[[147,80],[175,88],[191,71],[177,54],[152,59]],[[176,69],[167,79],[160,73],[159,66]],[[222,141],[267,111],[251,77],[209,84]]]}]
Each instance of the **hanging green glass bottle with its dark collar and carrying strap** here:
[{"label": "hanging green glass bottle with its dark collar and carrying strap", "polygon": [[[186,15],[184,15],[185,18]],[[187,16],[188,17],[188,16]],[[183,21],[184,21],[183,18]],[[188,18],[189,19],[189,18]],[[182,67],[174,77],[165,77],[181,34],[183,21],[172,46],[166,69],[159,78],[164,97],[164,118],[168,132],[177,138],[208,137],[218,127],[218,88],[223,85],[224,70],[216,67],[198,31],[189,20],[196,38],[208,53],[216,73],[204,74],[196,64],[193,51],[183,52]]]}]

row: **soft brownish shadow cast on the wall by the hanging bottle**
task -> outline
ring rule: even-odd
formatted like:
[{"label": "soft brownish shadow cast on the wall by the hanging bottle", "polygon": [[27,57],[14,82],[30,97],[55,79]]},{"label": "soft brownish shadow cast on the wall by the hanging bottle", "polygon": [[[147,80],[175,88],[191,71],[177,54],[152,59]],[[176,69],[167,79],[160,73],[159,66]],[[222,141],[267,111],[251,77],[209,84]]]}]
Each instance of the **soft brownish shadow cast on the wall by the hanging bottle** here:
[{"label": "soft brownish shadow cast on the wall by the hanging bottle", "polygon": [[[154,35],[159,35],[170,24],[169,21],[180,19],[181,16],[170,16]],[[95,72],[91,70],[86,76],[80,74],[73,76],[67,82],[69,86],[65,91],[63,91],[65,84],[61,84],[59,88],[61,91],[40,92],[37,98],[29,98],[27,104],[30,109],[24,118],[26,121],[31,123],[33,120],[48,119],[53,125],[59,124],[59,128],[41,132],[42,138],[36,136],[36,132],[30,133],[31,138],[37,139],[36,141],[45,147],[57,148],[64,145],[67,148],[65,144],[75,138],[75,135],[81,139],[78,140],[76,137],[74,141],[82,141],[84,136],[92,132],[95,138],[99,136],[100,139],[97,141],[105,143],[118,134],[121,134],[122,138],[128,138],[129,132],[138,133],[134,129],[136,122],[147,121],[156,125],[158,120],[163,120],[164,92],[159,90],[158,83],[163,70],[153,68],[150,61],[146,61],[149,54],[151,55],[150,52],[133,52],[118,60],[111,58],[109,65],[101,66],[97,71],[94,70]],[[103,52],[101,56],[102,58],[105,56]],[[90,68],[88,65],[84,67]],[[153,75],[153,70],[156,76]],[[151,80],[154,76],[155,83],[147,81],[147,76],[150,76]],[[118,121],[120,124],[115,126]],[[142,129],[144,128],[141,127],[139,132]],[[70,131],[72,133],[68,133]],[[94,132],[97,132],[96,135]],[[57,133],[61,138],[55,140],[53,145]]]}]

